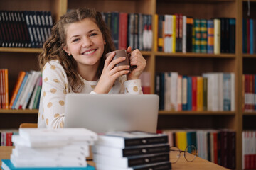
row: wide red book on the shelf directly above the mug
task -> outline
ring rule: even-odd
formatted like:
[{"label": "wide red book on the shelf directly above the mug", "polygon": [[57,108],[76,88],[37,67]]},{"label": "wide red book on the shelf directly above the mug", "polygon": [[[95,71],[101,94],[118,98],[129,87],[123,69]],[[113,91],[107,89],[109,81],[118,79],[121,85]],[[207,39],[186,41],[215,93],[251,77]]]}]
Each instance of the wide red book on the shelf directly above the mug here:
[{"label": "wide red book on the shelf directly above the mug", "polygon": [[128,14],[120,13],[119,14],[119,50],[127,49],[127,22]]}]

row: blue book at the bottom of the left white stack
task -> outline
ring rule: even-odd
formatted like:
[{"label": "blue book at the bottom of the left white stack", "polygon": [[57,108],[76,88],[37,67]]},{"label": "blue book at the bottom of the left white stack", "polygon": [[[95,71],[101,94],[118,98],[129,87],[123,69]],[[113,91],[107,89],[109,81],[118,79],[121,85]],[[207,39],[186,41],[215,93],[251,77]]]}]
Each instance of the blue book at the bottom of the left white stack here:
[{"label": "blue book at the bottom of the left white stack", "polygon": [[95,170],[94,166],[87,165],[86,167],[15,167],[14,164],[11,163],[10,159],[2,159],[1,168],[3,170]]}]

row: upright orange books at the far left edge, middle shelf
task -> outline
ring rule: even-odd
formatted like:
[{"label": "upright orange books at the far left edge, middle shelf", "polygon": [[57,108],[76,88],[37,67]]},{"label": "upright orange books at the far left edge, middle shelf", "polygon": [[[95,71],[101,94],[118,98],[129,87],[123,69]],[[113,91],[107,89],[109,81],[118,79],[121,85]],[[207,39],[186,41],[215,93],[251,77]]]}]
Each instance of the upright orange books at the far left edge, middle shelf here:
[{"label": "upright orange books at the far left edge, middle shelf", "polygon": [[0,108],[9,108],[8,69],[0,69]]}]

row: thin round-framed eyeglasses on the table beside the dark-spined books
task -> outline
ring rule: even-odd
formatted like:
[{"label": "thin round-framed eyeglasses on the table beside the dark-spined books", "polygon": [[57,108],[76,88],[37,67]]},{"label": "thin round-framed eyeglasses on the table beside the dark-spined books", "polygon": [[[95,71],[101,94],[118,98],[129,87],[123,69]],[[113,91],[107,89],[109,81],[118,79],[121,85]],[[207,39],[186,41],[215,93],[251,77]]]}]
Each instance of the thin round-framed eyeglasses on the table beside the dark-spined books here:
[{"label": "thin round-framed eyeglasses on the table beside the dark-spined books", "polygon": [[195,160],[197,156],[197,150],[194,145],[188,145],[184,151],[178,149],[178,147],[170,147],[170,152],[172,164],[178,162],[178,159],[181,157],[182,152],[184,152],[184,157],[187,162],[193,162],[193,160]]}]

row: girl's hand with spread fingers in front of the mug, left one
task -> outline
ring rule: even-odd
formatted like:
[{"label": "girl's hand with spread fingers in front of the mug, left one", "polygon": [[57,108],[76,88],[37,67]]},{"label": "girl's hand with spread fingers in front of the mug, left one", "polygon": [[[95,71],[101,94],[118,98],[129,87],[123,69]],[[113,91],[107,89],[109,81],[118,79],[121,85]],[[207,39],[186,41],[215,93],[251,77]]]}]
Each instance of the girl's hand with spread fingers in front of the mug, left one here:
[{"label": "girl's hand with spread fingers in front of the mug, left one", "polygon": [[107,94],[111,90],[114,84],[114,81],[118,77],[129,73],[129,70],[127,70],[129,69],[129,66],[127,65],[114,67],[119,62],[122,62],[125,60],[125,57],[119,57],[115,60],[112,60],[114,55],[115,55],[115,52],[112,52],[112,54],[110,54],[105,60],[105,64],[102,70],[102,74],[100,76],[100,80],[94,89],[95,93],[97,94]]}]

